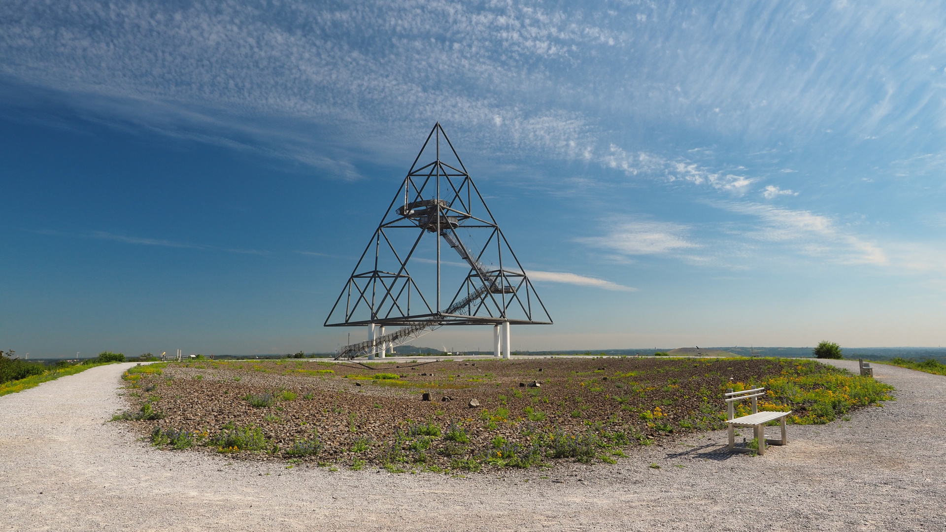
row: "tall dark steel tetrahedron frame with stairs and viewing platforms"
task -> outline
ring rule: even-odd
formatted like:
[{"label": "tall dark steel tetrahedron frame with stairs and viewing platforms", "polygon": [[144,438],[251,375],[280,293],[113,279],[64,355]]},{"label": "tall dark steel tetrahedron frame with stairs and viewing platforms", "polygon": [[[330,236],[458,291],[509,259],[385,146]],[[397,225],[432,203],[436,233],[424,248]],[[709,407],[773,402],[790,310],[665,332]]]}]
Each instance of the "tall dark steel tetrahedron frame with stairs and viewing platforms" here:
[{"label": "tall dark steel tetrahedron frame with stairs and viewing platforms", "polygon": [[437,123],[324,326],[399,327],[340,350],[353,358],[434,328],[505,323],[552,317]]}]

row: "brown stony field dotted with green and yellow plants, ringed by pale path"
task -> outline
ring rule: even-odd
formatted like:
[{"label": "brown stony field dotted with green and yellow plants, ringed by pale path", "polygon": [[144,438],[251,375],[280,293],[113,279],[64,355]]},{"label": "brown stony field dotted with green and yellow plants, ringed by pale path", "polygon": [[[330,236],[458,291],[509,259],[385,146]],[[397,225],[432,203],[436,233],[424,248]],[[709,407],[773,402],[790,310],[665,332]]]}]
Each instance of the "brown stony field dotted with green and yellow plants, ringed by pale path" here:
[{"label": "brown stony field dotted with green and yellow plants, ringed by pale path", "polygon": [[810,392],[868,384],[811,361],[633,357],[200,361],[133,366],[124,379],[118,420],[159,447],[412,471],[614,463],[631,446],[722,428],[727,388],[767,385],[763,410],[812,423],[836,413]]}]

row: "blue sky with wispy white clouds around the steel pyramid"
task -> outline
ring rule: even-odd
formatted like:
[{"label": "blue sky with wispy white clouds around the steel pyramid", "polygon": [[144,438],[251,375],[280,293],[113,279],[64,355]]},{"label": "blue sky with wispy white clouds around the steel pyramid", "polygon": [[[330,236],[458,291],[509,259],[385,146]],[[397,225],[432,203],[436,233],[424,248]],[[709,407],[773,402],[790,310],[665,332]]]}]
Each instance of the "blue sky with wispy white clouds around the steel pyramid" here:
[{"label": "blue sky with wispy white clouds around the steel pyramid", "polygon": [[325,315],[440,121],[555,320],[514,349],[941,346],[944,20],[904,1],[2,4],[0,342],[334,350]]}]

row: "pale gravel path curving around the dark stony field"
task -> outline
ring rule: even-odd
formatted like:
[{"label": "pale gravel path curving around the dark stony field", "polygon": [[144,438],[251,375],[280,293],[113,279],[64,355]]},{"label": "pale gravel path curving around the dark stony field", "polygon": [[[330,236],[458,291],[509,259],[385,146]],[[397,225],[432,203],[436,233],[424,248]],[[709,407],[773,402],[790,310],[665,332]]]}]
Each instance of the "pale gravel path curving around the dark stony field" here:
[{"label": "pale gravel path curving around the dark stony field", "polygon": [[874,370],[898,400],[790,425],[764,456],[715,432],[454,478],[155,450],[105,422],[128,365],[0,398],[0,530],[946,530],[946,378],[899,367]]}]

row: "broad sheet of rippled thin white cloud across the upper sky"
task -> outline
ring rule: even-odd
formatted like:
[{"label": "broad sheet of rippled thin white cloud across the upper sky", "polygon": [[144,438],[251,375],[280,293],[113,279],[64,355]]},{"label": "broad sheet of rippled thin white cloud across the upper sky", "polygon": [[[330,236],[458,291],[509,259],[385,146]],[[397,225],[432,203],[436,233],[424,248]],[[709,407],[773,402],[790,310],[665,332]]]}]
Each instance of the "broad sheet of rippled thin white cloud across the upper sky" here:
[{"label": "broad sheet of rippled thin white cloud across the upper sky", "polygon": [[[623,133],[635,129],[628,123],[758,138],[828,129],[863,138],[918,120],[939,128],[941,73],[918,66],[946,59],[946,30],[930,24],[943,10],[879,2],[812,17],[791,1],[763,13],[739,3],[15,2],[0,6],[0,75],[61,91],[114,123],[268,143],[346,179],[358,177],[345,167],[352,161],[326,162],[313,149],[347,143],[383,154],[434,120],[485,153],[610,165],[610,145],[641,144]],[[886,20],[898,24],[878,22]],[[681,165],[669,168],[676,178],[734,193],[753,180],[667,151],[659,166]],[[633,159],[628,170],[646,168]]]}]

